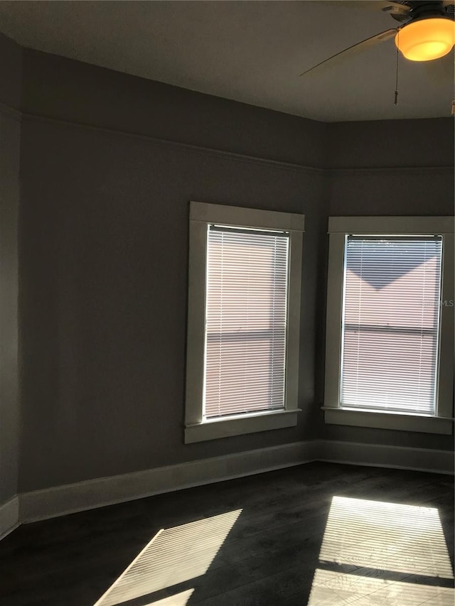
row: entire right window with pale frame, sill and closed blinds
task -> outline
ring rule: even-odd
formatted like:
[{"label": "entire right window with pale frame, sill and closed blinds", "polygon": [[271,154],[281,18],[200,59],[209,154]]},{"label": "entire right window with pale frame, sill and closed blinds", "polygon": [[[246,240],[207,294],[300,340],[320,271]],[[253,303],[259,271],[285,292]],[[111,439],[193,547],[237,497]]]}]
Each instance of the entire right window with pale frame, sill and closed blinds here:
[{"label": "entire right window with pale frame, sill and closed blinds", "polygon": [[326,423],[451,433],[451,217],[331,217]]}]

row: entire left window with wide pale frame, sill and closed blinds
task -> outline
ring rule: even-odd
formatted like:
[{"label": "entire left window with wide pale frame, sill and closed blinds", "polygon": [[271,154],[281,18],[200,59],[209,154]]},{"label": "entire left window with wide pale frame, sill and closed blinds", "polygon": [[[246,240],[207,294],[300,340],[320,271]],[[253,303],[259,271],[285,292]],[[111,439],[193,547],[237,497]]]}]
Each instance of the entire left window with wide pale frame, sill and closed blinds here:
[{"label": "entire left window with wide pale frame, sill and closed blinds", "polygon": [[185,441],[295,426],[303,215],[191,202]]}]

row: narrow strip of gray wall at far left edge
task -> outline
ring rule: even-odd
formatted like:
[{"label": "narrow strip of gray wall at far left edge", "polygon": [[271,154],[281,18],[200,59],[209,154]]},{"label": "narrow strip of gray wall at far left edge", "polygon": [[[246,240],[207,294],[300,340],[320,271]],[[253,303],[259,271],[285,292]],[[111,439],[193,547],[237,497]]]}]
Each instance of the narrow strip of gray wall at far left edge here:
[{"label": "narrow strip of gray wall at far left edge", "polygon": [[18,486],[18,108],[21,48],[0,34],[0,505]]}]

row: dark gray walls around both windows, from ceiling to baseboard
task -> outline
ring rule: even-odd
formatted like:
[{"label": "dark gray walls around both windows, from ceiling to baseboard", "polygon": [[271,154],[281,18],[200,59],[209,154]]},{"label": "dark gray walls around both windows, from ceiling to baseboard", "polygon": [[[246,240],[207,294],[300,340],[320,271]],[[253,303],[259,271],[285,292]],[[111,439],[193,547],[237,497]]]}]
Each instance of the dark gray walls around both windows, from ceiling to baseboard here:
[{"label": "dark gray walls around both windows, from ceiling to baseboard", "polygon": [[[21,491],[319,436],[451,448],[320,410],[327,217],[451,214],[453,159],[432,146],[451,121],[321,124],[23,61]],[[189,200],[306,215],[296,428],[183,444]]]}]

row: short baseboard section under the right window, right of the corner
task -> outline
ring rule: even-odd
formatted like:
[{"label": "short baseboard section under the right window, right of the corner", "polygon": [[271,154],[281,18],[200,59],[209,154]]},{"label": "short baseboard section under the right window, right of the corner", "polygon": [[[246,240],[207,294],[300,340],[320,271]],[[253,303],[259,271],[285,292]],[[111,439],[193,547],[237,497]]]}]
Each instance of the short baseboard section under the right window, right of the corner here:
[{"label": "short baseboard section under the right window, right of the corner", "polygon": [[318,460],[347,465],[367,465],[454,474],[454,453],[451,450],[430,450],[407,446],[387,446],[356,442],[321,440]]}]

